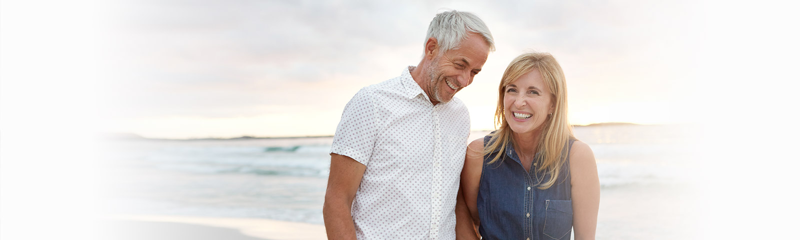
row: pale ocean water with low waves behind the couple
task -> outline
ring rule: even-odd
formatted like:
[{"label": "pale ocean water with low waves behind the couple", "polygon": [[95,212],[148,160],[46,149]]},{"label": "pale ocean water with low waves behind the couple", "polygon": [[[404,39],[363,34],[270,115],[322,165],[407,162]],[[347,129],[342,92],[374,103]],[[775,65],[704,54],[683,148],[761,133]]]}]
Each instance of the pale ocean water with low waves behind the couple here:
[{"label": "pale ocean water with low waves behind the couple", "polygon": [[[598,162],[597,239],[700,238],[694,129],[576,126]],[[489,131],[473,131],[470,140]],[[103,214],[322,224],[332,137],[118,139],[102,154]]]}]

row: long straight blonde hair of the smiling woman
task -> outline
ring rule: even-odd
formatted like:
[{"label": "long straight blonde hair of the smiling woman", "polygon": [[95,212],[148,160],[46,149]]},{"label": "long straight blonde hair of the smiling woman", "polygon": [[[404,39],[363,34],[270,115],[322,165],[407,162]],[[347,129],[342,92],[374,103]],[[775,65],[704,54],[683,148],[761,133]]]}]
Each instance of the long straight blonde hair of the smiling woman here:
[{"label": "long straight blonde hair of the smiling woman", "polygon": [[566,154],[569,152],[566,149],[568,146],[566,142],[575,139],[572,127],[566,118],[566,78],[553,55],[537,52],[526,53],[514,58],[514,61],[508,65],[500,81],[498,108],[494,113],[495,124],[499,128],[489,134],[490,140],[486,142],[483,154],[486,156],[498,151],[498,154],[495,154],[494,158],[487,163],[491,164],[502,158],[509,144],[515,145],[511,138],[511,128],[503,114],[503,98],[506,96],[506,86],[532,70],[539,70],[539,73],[542,74],[542,80],[553,94],[552,100],[554,101],[553,114],[541,126],[544,129],[539,137],[538,146],[536,146],[538,158],[534,159],[538,162],[537,172],[550,174],[550,179],[546,179],[546,182],[538,186],[539,189],[544,190],[555,184],[558,174],[566,162]]}]

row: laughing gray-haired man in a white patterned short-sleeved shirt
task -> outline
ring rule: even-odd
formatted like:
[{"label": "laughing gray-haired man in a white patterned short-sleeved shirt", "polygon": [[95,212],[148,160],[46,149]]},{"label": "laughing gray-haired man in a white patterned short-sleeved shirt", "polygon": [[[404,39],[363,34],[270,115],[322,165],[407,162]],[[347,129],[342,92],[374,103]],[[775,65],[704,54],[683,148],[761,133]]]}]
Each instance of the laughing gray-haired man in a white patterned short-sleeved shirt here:
[{"label": "laughing gray-haired man in a white patterned short-sleeved shirt", "polygon": [[492,50],[489,29],[475,14],[437,14],[417,66],[347,103],[322,210],[329,239],[455,238],[470,117],[453,96]]}]

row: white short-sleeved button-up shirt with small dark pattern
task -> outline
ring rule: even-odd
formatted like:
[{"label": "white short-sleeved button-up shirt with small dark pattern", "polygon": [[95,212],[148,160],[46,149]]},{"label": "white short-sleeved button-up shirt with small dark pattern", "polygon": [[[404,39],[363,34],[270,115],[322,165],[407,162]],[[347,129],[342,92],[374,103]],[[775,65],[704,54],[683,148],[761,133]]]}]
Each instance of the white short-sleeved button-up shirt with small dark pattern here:
[{"label": "white short-sleeved button-up shirt with small dark pattern", "polygon": [[433,105],[409,66],[345,106],[330,152],[366,166],[351,214],[358,239],[455,239],[455,199],[470,116]]}]

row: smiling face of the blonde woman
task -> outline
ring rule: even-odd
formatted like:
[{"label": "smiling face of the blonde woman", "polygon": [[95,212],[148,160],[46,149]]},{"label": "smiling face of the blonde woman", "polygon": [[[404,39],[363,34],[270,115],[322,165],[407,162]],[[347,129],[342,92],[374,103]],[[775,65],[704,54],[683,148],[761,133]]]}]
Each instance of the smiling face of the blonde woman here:
[{"label": "smiling face of the blonde woman", "polygon": [[511,82],[505,92],[503,114],[514,133],[535,134],[534,130],[541,130],[547,114],[553,113],[553,94],[537,69]]}]

